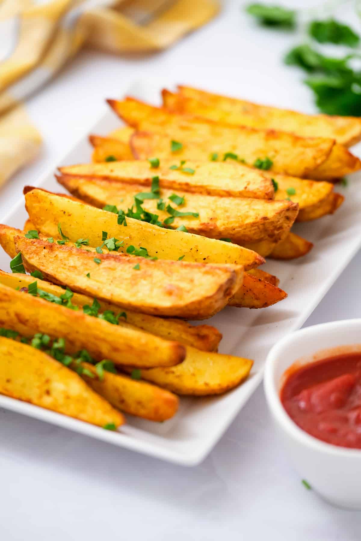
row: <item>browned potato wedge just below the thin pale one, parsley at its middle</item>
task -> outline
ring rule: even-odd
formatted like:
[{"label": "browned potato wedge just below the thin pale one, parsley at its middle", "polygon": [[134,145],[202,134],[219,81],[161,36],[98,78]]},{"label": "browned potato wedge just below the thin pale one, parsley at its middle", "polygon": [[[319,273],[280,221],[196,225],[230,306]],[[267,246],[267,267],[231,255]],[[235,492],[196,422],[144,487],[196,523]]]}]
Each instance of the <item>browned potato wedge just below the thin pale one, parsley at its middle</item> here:
[{"label": "browned potato wedge just below the thin pale one, parsley at its middle", "polygon": [[[89,177],[58,176],[58,182],[78,199],[98,208],[106,204],[119,208],[131,208],[134,196],[144,189],[142,184],[127,184]],[[172,189],[160,189],[159,197],[175,209],[170,197]],[[298,214],[298,204],[291,201],[273,201],[244,197],[219,197],[189,192],[176,195],[183,198],[179,207],[181,212],[196,212],[199,217],[175,217],[170,228],[185,226],[189,233],[211,237],[213,239],[231,239],[235,244],[270,240],[279,242],[291,229]],[[157,214],[163,222],[170,215],[167,210],[157,208],[157,199],[142,202],[148,212]],[[178,208],[176,208],[178,210]]]}]

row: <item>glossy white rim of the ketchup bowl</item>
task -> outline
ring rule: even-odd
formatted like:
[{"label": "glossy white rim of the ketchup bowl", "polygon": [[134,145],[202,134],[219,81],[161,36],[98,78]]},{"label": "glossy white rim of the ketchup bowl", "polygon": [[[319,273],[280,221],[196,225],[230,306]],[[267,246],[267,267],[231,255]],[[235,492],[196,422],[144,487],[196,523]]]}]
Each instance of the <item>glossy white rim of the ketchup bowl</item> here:
[{"label": "glossy white rim of the ketchup bowl", "polygon": [[[267,355],[264,373],[264,390],[268,407],[277,418],[277,421],[282,429],[290,434],[293,439],[296,439],[302,445],[311,447],[314,451],[327,453],[332,456],[356,458],[361,460],[361,449],[339,447],[338,445],[326,443],[326,441],[319,440],[318,438],[315,438],[314,436],[311,436],[311,434],[308,434],[302,430],[302,428],[294,423],[286,412],[279,398],[278,389],[274,385],[274,371],[275,367],[277,366],[278,359],[285,346],[287,346],[294,339],[294,337],[297,336],[298,339],[302,339],[307,334],[313,333],[314,331],[323,331],[325,329],[329,329],[332,332],[342,330],[342,328],[350,325],[359,325],[361,330],[361,319],[344,319],[340,321],[321,323],[319,325],[311,325],[310,327],[293,331],[292,333],[287,334],[284,338],[281,338],[281,340],[276,342],[276,344],[271,348]],[[317,353],[317,350],[314,353]]]}]

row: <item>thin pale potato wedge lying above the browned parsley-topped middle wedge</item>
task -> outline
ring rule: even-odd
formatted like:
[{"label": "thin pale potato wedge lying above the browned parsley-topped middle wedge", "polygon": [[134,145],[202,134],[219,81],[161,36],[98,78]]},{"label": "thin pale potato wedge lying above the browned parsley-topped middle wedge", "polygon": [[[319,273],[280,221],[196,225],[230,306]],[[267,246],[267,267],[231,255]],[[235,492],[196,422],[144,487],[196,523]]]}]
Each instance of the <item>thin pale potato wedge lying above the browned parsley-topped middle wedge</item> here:
[{"label": "thin pale potato wedge lying above the browned parsley-topped middle wedge", "polygon": [[[156,170],[159,186],[165,189],[182,190],[202,195],[224,197],[252,197],[253,199],[273,199],[274,189],[270,178],[255,169],[239,167],[231,162],[191,162],[187,167],[194,170],[193,175],[172,170],[176,160],[170,156],[162,160]],[[100,179],[121,183],[152,186],[154,169],[150,169],[148,160],[122,161],[78,166],[60,167],[62,177],[80,177],[81,179]]]}]

